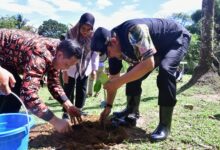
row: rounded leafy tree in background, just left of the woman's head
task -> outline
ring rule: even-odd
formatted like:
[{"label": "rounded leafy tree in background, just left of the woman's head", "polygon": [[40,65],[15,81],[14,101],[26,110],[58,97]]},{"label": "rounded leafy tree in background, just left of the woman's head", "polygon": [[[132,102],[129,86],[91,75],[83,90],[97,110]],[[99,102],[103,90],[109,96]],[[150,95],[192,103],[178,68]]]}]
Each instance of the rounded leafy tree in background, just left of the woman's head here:
[{"label": "rounded leafy tree in background, just left of the woman's head", "polygon": [[66,33],[67,30],[67,25],[59,23],[56,20],[49,19],[44,21],[38,28],[38,34],[51,38],[59,38],[61,34]]}]

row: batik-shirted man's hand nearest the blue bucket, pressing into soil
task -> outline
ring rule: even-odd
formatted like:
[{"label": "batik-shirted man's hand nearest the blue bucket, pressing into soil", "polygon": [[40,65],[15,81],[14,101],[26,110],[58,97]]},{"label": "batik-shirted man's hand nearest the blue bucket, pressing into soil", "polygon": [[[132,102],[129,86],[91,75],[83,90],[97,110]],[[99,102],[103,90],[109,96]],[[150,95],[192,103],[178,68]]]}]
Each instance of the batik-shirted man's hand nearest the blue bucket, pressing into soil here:
[{"label": "batik-shirted man's hand nearest the blue bucket, pressing into soil", "polygon": [[54,126],[55,130],[59,133],[67,133],[72,131],[70,124],[65,119],[60,119],[54,116],[49,122]]}]

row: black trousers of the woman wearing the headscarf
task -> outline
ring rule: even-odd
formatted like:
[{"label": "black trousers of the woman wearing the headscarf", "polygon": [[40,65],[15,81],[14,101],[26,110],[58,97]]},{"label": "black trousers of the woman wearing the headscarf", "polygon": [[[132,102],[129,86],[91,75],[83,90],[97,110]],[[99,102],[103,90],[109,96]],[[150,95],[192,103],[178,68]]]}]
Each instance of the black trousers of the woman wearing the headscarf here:
[{"label": "black trousers of the woman wearing the headscarf", "polygon": [[[67,97],[72,103],[74,103],[75,99],[75,106],[77,108],[82,108],[85,104],[87,80],[87,76],[83,77],[82,79],[80,76],[77,79],[69,77],[69,82],[67,84],[64,83],[64,91]],[[75,89],[76,93],[74,95]]]}]

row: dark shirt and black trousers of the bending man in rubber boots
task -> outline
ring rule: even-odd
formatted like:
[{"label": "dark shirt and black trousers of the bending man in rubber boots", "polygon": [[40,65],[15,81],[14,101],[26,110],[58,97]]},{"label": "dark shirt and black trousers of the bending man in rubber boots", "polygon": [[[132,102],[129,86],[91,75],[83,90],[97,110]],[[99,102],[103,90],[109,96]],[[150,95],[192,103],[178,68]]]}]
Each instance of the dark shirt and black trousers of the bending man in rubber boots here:
[{"label": "dark shirt and black trousers of the bending man in rubber boots", "polygon": [[[135,34],[135,32],[136,34],[142,34],[140,31],[138,31],[140,30],[140,27],[137,27],[137,25],[146,25],[149,30],[149,35],[136,35],[136,39],[133,40],[138,42],[141,41],[140,38],[146,38],[145,36],[149,36],[156,48],[156,53],[152,49],[146,51],[144,56],[142,55],[141,57],[135,53],[135,46],[132,46],[134,44],[131,44],[128,34],[129,32],[133,32],[133,34]],[[143,29],[147,30],[147,28]],[[159,88],[158,103],[161,106],[175,106],[175,71],[183,56],[187,52],[190,39],[189,32],[174,21],[165,19],[129,20],[115,27],[112,32],[116,33],[116,35],[119,37],[122,53],[130,58],[125,60],[131,64],[131,67],[129,67],[128,71],[142,59],[146,59],[147,57],[154,55],[156,66],[159,66],[159,75],[157,78],[157,86]],[[109,59],[110,74],[114,75],[119,73],[121,68],[121,60],[116,58]],[[148,74],[141,79],[128,83],[126,85],[126,95],[141,95],[141,82],[147,76]]]}]

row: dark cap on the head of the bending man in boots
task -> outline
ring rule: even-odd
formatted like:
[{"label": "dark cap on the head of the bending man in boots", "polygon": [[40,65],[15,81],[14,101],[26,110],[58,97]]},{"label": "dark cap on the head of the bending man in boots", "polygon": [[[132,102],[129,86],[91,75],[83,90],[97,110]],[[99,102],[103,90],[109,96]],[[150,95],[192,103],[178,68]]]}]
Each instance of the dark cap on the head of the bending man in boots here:
[{"label": "dark cap on the head of the bending man in boots", "polygon": [[100,52],[100,55],[107,53],[107,44],[111,38],[111,32],[103,27],[96,29],[92,41],[91,50]]}]

